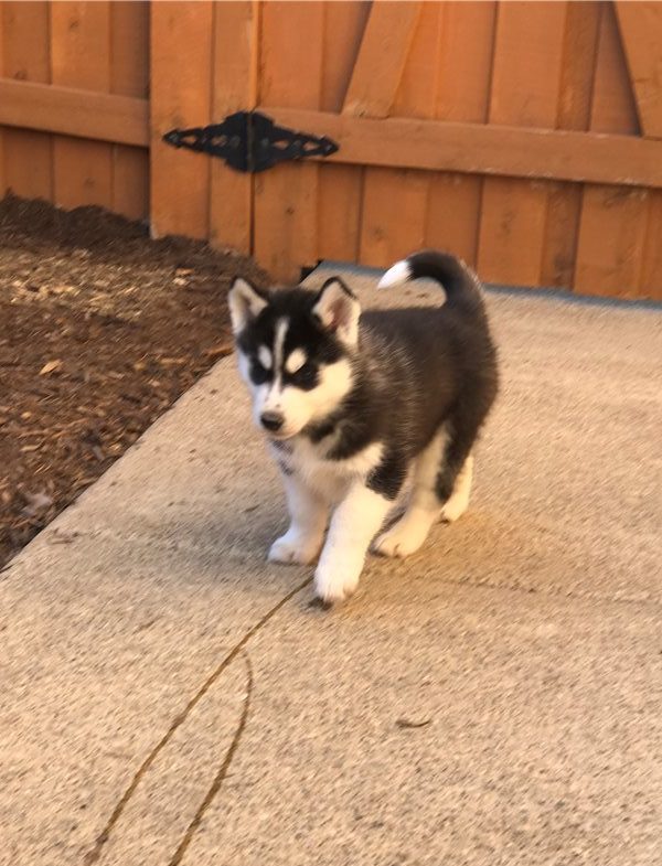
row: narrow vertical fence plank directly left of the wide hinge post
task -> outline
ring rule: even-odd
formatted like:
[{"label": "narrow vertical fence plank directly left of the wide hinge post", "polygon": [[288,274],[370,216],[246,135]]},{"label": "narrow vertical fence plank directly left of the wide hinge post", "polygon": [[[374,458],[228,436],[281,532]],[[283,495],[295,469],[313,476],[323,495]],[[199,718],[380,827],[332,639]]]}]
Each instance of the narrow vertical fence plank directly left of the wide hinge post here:
[{"label": "narrow vertical fence plank directly left of the wide hinge post", "polygon": [[[146,98],[149,83],[149,3],[115,0],[110,8],[110,89]],[[149,153],[142,148],[113,148],[113,210],[131,220],[149,211]]]}]

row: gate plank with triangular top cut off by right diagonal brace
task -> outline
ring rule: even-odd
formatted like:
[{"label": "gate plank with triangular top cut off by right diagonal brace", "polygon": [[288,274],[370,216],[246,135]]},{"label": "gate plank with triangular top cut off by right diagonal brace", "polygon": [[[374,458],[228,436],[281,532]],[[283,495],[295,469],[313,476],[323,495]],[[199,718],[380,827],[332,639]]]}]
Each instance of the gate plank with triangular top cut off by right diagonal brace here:
[{"label": "gate plank with triangular top cut off by right diagonal brace", "polygon": [[[639,132],[632,88],[611,3],[600,22],[590,128]],[[636,295],[640,281],[648,191],[586,185],[577,248],[575,287],[586,295]]]}]

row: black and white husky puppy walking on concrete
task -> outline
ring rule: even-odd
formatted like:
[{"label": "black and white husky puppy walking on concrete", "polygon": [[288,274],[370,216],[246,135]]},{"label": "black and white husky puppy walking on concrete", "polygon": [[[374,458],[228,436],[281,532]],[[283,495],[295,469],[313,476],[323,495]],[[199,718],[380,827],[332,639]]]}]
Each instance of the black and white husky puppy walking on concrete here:
[{"label": "black and white husky puppy walking on concrete", "polygon": [[376,553],[414,553],[437,520],[457,520],[469,503],[496,355],[474,274],[424,252],[394,265],[380,288],[418,277],[444,286],[442,306],[362,313],[338,277],[318,292],[267,292],[239,278],[229,292],[239,371],[291,518],[269,559],[307,564],[321,549],[314,589],[325,602],[356,588],[409,471],[407,509]]}]

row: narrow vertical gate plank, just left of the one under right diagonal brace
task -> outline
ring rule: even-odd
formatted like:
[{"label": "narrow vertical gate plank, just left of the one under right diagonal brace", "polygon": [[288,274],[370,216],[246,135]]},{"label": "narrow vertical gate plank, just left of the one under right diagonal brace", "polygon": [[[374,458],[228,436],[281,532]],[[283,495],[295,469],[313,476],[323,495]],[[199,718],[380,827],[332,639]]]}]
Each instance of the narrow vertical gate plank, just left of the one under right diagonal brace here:
[{"label": "narrow vertical gate plank, just left of the one under right diagonal brace", "polygon": [[[585,131],[589,127],[601,11],[600,3],[590,0],[568,4],[557,129]],[[543,286],[570,288],[574,284],[581,196],[579,183],[549,184]]]}]

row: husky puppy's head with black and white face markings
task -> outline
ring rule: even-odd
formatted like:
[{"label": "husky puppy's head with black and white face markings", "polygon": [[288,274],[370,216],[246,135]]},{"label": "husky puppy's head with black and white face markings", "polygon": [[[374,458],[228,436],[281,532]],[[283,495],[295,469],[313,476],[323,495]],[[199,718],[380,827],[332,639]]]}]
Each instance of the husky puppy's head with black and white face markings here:
[{"label": "husky puppy's head with black and white face markings", "polygon": [[261,291],[239,277],[228,303],[257,426],[289,439],[328,417],[351,391],[359,341],[361,308],[344,282]]}]

